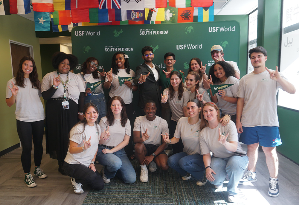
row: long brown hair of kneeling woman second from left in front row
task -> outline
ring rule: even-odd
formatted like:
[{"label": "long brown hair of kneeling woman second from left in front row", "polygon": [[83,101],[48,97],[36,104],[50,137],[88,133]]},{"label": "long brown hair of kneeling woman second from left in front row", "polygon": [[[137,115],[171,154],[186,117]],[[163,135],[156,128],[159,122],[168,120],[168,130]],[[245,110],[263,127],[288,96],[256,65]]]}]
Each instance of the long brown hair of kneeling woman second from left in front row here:
[{"label": "long brown hair of kneeling woman second from left in front row", "polygon": [[127,123],[127,120],[128,120],[128,116],[127,116],[127,113],[126,113],[126,105],[125,105],[125,103],[123,102],[123,99],[120,96],[114,96],[109,100],[108,106],[107,106],[107,114],[106,114],[107,121],[106,121],[106,123],[108,124],[108,126],[112,126],[112,125],[114,125],[114,122],[115,122],[114,115],[113,115],[113,112],[111,110],[111,105],[112,105],[113,100],[119,100],[120,105],[123,107],[121,112],[120,112],[120,119],[121,119],[120,122],[121,122],[121,126],[125,127],[126,123]]}]

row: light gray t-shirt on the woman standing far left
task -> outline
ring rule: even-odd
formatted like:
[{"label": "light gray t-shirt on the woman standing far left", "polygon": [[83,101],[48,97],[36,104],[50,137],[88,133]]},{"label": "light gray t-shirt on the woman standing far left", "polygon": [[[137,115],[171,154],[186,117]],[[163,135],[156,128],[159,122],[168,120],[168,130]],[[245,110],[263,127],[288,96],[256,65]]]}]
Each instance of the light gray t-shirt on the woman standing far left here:
[{"label": "light gray t-shirt on the woman standing far left", "polygon": [[[16,85],[16,78],[7,81],[5,98],[12,96],[10,89],[7,87],[13,87],[11,82]],[[24,85],[24,88],[17,86],[19,92],[16,96],[16,119],[24,122],[36,122],[45,119],[44,108],[39,98],[42,96],[41,91],[32,88],[29,78],[24,78]]]}]

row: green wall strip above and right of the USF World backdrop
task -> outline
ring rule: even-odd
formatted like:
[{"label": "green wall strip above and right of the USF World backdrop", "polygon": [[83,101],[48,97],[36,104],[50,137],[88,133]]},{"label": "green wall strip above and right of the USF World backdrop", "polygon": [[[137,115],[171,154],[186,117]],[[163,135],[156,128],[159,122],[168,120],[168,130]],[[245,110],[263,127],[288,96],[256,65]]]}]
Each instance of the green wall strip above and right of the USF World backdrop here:
[{"label": "green wall strip above and right of the USF World backdrop", "polygon": [[[247,71],[247,44],[248,44],[248,15],[215,15],[214,21],[238,21],[240,24],[240,54],[239,54],[239,70],[241,77],[246,75]],[[224,50],[224,59],[225,50]]]}]

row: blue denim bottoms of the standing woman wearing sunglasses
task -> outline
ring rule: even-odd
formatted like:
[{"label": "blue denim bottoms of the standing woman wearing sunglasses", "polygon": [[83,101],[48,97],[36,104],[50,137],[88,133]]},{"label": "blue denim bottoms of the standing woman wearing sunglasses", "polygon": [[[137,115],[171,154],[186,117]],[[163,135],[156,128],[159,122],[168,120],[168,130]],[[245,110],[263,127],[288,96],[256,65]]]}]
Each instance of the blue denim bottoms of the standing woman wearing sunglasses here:
[{"label": "blue denim bottoms of the standing woman wearing sunglasses", "polygon": [[98,119],[100,122],[102,117],[105,117],[106,113],[107,113],[107,105],[106,105],[105,95],[103,93],[100,93],[100,94],[92,93],[92,95],[87,95],[84,99],[84,104],[87,104],[90,102],[97,106],[97,111],[99,112]]}]

